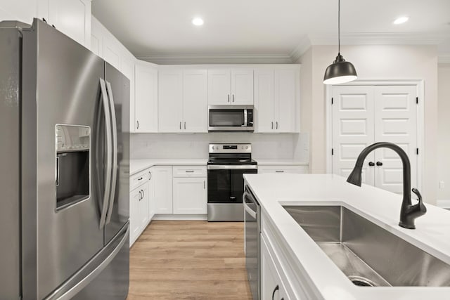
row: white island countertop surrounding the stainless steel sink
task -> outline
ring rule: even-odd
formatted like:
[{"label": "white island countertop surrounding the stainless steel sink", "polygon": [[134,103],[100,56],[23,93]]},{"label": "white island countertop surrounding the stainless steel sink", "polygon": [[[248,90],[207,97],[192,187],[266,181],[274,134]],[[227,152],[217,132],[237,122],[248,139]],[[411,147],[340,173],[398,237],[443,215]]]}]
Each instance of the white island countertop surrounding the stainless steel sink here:
[{"label": "white island countertop surrounding the stainless steel sink", "polygon": [[[416,219],[416,230],[398,226],[401,196],[345,182],[330,174],[245,174],[264,215],[320,291],[323,299],[450,299],[450,287],[356,287],[298,226],[281,204],[343,205],[446,263],[450,263],[450,211],[426,204],[428,211]],[[425,200],[426,201],[426,200]]]}]

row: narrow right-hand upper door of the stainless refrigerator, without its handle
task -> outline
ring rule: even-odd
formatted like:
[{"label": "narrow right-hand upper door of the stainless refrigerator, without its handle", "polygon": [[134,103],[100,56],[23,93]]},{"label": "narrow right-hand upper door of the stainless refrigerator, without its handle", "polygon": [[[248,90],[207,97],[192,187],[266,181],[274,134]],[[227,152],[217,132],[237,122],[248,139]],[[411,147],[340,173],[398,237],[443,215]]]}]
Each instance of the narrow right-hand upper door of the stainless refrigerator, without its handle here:
[{"label": "narrow right-hand upper door of the stainless refrigerator, without its handle", "polygon": [[117,121],[117,181],[110,223],[105,226],[105,244],[129,219],[129,80],[112,65],[105,63],[105,80],[113,89]]}]

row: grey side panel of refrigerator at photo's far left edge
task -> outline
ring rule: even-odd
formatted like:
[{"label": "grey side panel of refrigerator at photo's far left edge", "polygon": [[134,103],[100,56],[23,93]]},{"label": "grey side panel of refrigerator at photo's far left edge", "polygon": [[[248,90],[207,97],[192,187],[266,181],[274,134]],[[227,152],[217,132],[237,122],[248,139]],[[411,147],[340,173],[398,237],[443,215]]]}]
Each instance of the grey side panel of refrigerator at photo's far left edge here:
[{"label": "grey side panel of refrigerator at photo's far left edge", "polygon": [[0,28],[0,299],[20,298],[20,39]]}]

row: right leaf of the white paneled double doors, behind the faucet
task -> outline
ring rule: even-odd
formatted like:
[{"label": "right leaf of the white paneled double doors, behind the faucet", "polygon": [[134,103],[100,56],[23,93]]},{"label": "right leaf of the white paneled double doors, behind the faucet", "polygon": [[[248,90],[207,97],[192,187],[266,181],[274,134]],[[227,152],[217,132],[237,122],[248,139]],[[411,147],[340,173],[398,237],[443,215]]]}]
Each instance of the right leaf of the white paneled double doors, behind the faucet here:
[{"label": "right leaf of the white paneled double doors, behind the faucet", "polygon": [[[417,104],[416,86],[375,86],[375,141],[399,145],[411,162],[411,185],[417,186]],[[389,149],[375,150],[375,186],[403,193],[399,155]]]}]

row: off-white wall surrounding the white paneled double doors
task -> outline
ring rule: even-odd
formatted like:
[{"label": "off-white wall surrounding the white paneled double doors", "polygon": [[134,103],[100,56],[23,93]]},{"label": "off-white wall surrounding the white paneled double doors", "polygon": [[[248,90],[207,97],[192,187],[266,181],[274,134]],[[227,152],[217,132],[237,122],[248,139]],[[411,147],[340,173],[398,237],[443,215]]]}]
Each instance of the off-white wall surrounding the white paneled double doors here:
[{"label": "off-white wall surrounding the white paneled double doors", "polygon": [[[311,51],[311,53],[309,53]],[[337,55],[336,46],[312,46],[300,58],[302,78],[311,82],[302,86],[302,129],[310,128],[312,173],[326,171],[326,107],[323,73]],[[424,79],[425,81],[425,149],[422,191],[425,201],[437,200],[437,48],[413,45],[341,46],[346,60],[356,67],[359,79]],[[303,64],[304,63],[304,64]],[[311,68],[304,65],[311,64]],[[306,89],[306,90],[305,90]],[[309,90],[309,91],[308,91]],[[309,97],[308,97],[309,95]],[[309,124],[303,124],[308,122]]]}]

